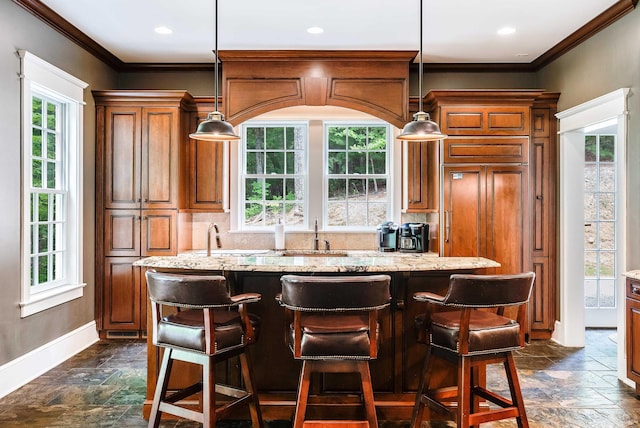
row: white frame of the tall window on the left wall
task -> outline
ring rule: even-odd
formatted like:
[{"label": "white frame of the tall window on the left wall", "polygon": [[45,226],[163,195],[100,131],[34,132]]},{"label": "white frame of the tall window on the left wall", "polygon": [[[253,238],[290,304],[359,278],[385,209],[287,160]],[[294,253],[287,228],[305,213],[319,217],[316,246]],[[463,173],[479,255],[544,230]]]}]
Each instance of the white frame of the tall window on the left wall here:
[{"label": "white frame of the tall window on the left wall", "polygon": [[[84,89],[87,83],[47,63],[30,52],[20,50],[22,109],[22,223],[21,223],[21,300],[20,315],[29,315],[83,296],[82,282],[82,124]],[[32,287],[30,278],[31,232],[31,149],[32,96],[37,94],[59,102],[64,110],[62,143],[63,177],[66,191],[63,236],[63,274],[45,287]]]}]

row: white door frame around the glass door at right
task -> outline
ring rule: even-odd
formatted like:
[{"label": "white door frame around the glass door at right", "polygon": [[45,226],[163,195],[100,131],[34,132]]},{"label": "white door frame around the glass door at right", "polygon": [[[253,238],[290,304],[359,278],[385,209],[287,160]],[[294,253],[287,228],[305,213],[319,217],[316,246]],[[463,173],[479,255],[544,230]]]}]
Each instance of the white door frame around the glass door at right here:
[{"label": "white door frame around the glass door at right", "polygon": [[[626,141],[627,95],[629,88],[621,88],[601,97],[556,114],[559,123],[559,292],[560,313],[553,339],[563,346],[584,347],[584,132],[583,128],[608,119],[618,121],[618,262],[617,262],[617,319],[618,319],[618,378],[626,379],[624,335],[624,277],[626,270]],[[580,218],[580,221],[576,221]],[[580,257],[576,257],[580,254]]]}]

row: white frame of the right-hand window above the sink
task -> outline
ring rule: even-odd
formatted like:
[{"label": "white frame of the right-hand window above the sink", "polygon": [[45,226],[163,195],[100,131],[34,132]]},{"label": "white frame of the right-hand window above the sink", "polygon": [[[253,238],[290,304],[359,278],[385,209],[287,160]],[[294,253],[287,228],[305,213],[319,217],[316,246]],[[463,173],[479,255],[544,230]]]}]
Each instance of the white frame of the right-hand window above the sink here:
[{"label": "white frame of the right-hand window above the sink", "polygon": [[[328,186],[328,158],[329,158],[329,127],[383,127],[387,130],[387,150],[386,150],[386,174],[375,174],[379,176],[385,176],[387,181],[387,219],[394,218],[393,201],[394,201],[394,173],[393,173],[393,134],[391,125],[383,121],[368,121],[368,120],[347,120],[347,121],[325,121],[322,127],[323,142],[322,142],[322,155],[323,155],[323,174],[322,174],[322,224],[327,231],[362,231],[371,232],[376,230],[377,225],[370,226],[330,226],[329,225],[329,186]],[[368,177],[369,175],[363,175]]]}]

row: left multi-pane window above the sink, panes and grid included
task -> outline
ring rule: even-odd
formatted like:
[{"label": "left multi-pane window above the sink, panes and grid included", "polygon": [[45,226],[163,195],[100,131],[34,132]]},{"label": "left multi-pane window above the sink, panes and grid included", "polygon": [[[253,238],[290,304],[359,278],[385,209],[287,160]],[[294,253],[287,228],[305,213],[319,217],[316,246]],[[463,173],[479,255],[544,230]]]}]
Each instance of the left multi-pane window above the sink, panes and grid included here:
[{"label": "left multi-pane window above the sink, panes and grid included", "polygon": [[243,134],[241,228],[306,225],[307,124],[250,123]]}]

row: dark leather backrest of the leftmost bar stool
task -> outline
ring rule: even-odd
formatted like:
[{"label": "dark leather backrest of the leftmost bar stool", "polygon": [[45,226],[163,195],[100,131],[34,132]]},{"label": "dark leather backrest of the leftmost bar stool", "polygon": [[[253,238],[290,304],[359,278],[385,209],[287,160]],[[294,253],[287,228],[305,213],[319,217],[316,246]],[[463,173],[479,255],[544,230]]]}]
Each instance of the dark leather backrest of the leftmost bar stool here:
[{"label": "dark leather backrest of the leftmost bar stool", "polygon": [[224,307],[233,304],[222,275],[187,275],[147,271],[152,302],[186,308]]}]

